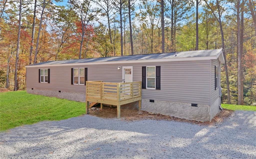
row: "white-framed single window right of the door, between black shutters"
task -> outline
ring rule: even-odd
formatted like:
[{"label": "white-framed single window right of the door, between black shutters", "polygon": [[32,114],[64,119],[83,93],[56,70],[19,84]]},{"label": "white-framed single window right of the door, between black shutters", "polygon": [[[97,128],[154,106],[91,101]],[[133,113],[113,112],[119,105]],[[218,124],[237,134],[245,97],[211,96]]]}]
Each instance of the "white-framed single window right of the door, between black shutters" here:
[{"label": "white-framed single window right of the door, between black shutters", "polygon": [[146,88],[156,89],[156,67],[147,66],[146,68]]}]

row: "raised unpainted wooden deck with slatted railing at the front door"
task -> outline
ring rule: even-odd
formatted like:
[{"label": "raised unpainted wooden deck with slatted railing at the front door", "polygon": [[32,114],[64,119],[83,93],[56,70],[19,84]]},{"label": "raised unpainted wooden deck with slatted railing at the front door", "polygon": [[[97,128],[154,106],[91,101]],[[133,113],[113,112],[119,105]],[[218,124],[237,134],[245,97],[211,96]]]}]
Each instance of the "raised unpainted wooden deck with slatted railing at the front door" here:
[{"label": "raised unpainted wooden deck with slatted railing at the front door", "polygon": [[110,83],[103,81],[86,81],[86,113],[89,102],[117,106],[117,117],[120,118],[120,105],[139,101],[141,111],[141,82]]}]

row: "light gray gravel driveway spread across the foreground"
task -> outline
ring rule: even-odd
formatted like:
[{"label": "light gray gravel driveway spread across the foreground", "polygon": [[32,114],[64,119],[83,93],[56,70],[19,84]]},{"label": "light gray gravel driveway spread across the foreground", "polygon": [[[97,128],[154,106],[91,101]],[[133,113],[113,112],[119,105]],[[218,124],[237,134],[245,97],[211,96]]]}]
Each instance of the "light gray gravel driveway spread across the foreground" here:
[{"label": "light gray gravel driveway spread across the foreground", "polygon": [[215,126],[84,115],[0,133],[0,158],[256,158],[255,133],[247,111]]}]

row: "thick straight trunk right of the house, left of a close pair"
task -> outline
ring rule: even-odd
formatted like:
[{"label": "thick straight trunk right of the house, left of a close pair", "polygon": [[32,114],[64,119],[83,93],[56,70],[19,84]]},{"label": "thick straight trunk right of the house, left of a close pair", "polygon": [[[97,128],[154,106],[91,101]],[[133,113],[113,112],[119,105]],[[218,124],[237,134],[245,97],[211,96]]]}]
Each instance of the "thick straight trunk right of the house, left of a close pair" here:
[{"label": "thick straight trunk right of the house, left of a close pair", "polygon": [[241,39],[240,39],[240,0],[237,0],[237,55],[238,55],[238,71],[237,71],[237,86],[238,86],[238,105],[241,105]]}]

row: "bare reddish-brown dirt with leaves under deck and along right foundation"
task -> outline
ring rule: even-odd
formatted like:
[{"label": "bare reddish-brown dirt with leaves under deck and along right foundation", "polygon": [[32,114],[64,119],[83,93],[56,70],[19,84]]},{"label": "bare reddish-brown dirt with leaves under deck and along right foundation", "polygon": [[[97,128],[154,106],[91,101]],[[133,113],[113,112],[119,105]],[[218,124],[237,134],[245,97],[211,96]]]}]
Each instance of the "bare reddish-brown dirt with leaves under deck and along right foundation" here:
[{"label": "bare reddish-brown dirt with leaves under deck and along right foundation", "polygon": [[[92,110],[94,109],[94,110]],[[104,109],[100,109],[99,107],[90,108],[89,114],[98,116],[101,118],[116,118],[117,112],[116,107],[108,107],[104,106]],[[163,114],[156,114],[156,113],[149,113],[146,111],[138,112],[137,110],[129,110],[129,109],[122,109],[121,108],[121,119],[126,121],[135,121],[135,120],[145,120],[145,119],[153,119],[153,120],[167,120],[167,121],[179,121],[179,122],[187,122],[191,124],[198,124],[198,125],[213,125],[216,123],[223,122],[225,118],[228,118],[230,115],[233,114],[234,111],[223,109],[223,111],[219,112],[211,122],[198,122],[194,120],[186,120],[177,117],[172,117],[169,115]]]}]

